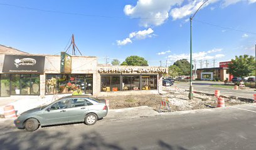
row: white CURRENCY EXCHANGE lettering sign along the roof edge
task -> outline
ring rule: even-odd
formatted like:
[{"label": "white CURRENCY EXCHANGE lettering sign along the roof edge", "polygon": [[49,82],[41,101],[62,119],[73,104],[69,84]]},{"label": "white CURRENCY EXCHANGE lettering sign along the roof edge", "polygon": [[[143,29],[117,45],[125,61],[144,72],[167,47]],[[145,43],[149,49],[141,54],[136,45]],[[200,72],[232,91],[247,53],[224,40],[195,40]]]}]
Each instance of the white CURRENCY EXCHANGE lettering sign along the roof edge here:
[{"label": "white CURRENCY EXCHANGE lettering sign along the roof edge", "polygon": [[99,68],[100,73],[168,73],[168,68]]}]

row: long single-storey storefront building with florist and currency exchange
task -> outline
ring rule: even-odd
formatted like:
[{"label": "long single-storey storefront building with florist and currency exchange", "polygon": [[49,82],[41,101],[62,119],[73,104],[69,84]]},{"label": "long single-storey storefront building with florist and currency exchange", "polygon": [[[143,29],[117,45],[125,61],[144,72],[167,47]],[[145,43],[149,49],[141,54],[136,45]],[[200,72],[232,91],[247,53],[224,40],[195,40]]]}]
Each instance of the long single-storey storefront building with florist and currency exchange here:
[{"label": "long single-storey storefront building with florist and currency exchange", "polygon": [[168,68],[97,66],[96,57],[0,53],[0,96],[157,93]]}]

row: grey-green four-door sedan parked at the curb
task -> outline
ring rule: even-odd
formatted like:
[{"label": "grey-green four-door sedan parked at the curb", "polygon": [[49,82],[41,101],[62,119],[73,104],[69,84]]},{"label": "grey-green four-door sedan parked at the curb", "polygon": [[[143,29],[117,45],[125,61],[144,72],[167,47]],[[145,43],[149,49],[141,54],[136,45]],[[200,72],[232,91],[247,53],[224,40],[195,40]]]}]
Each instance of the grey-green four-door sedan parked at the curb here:
[{"label": "grey-green four-door sedan parked at the curb", "polygon": [[105,100],[88,96],[66,96],[57,101],[30,109],[21,114],[14,124],[19,129],[35,131],[39,126],[84,122],[93,125],[107,116]]}]

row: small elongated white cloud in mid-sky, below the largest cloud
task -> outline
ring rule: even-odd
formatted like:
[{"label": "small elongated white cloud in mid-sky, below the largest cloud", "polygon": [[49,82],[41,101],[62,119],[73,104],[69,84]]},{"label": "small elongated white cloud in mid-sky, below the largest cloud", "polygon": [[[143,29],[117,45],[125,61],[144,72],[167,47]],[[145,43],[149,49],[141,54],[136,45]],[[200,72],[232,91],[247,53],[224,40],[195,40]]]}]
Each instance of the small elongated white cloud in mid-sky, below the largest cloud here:
[{"label": "small elongated white cloud in mid-sky, below the largest cloud", "polygon": [[128,43],[132,43],[132,40],[134,39],[138,39],[138,40],[141,40],[141,39],[146,39],[148,37],[152,37],[153,36],[153,33],[154,31],[149,28],[147,30],[143,30],[143,31],[137,31],[137,32],[131,32],[129,34],[129,37],[127,37],[126,39],[120,41],[120,40],[117,40],[117,45],[119,46],[124,46]]}]

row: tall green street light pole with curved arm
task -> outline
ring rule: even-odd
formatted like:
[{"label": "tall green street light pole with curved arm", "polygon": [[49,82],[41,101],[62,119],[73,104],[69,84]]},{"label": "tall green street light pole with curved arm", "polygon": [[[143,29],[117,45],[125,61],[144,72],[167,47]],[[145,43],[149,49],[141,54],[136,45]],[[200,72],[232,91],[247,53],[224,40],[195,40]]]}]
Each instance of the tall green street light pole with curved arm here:
[{"label": "tall green street light pole with curved arm", "polygon": [[[207,1],[208,0],[206,0],[205,2]],[[203,4],[205,4],[205,2],[203,2]],[[203,4],[201,4],[201,6],[196,10],[196,12],[199,11],[199,9],[203,6]],[[195,17],[196,12],[192,17],[189,17],[190,19],[190,86],[189,86],[189,94],[188,94],[189,99],[193,99],[194,97],[193,86],[192,86],[192,20]]]}]

